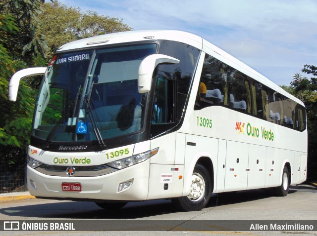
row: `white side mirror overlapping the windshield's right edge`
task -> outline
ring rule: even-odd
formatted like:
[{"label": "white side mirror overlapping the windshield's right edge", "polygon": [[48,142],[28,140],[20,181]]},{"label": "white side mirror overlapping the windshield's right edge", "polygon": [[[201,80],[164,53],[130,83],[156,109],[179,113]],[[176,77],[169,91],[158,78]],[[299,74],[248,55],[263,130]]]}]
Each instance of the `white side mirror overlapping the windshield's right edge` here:
[{"label": "white side mirror overlapping the windshield's right edge", "polygon": [[144,58],[139,67],[139,93],[146,93],[151,90],[153,72],[159,64],[178,63],[178,59],[163,54],[153,54]]}]

